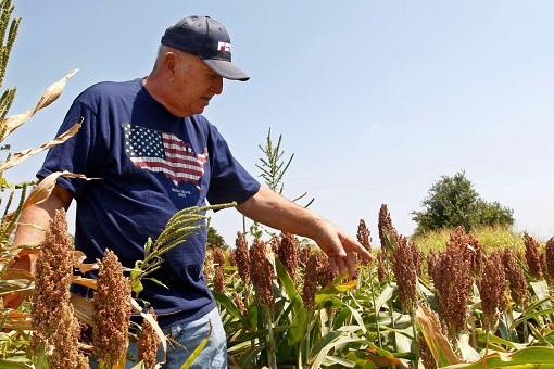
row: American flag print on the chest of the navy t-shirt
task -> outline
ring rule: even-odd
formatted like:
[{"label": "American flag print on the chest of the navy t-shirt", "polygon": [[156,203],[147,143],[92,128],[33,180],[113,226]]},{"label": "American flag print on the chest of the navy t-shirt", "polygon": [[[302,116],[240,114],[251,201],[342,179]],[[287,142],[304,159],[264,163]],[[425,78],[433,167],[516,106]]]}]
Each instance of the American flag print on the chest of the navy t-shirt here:
[{"label": "American flag print on the chest of the navy t-shirt", "polygon": [[143,169],[163,173],[175,184],[192,182],[199,187],[207,161],[207,149],[194,154],[190,144],[177,136],[124,123],[125,152],[133,164]]}]

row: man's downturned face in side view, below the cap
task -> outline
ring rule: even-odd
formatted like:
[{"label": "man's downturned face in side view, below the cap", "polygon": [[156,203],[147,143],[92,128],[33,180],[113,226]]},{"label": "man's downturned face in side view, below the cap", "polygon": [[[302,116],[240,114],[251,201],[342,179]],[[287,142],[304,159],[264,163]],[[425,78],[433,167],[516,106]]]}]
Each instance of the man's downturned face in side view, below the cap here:
[{"label": "man's downturned face in side view, below the cap", "polygon": [[194,55],[175,54],[175,74],[169,81],[171,105],[178,116],[201,114],[210,100],[222,93],[223,78]]}]

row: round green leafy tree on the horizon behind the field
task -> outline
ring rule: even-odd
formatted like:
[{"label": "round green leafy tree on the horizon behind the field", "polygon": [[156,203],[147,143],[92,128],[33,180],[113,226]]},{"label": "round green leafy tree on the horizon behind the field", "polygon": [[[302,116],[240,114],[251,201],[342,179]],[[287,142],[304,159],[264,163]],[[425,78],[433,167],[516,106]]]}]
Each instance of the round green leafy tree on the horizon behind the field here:
[{"label": "round green leafy tree on the horizon behind the field", "polygon": [[423,211],[412,212],[412,219],[417,224],[416,234],[456,227],[464,227],[468,232],[486,226],[511,228],[515,221],[513,209],[482,200],[465,171],[442,176],[431,186],[421,206]]}]

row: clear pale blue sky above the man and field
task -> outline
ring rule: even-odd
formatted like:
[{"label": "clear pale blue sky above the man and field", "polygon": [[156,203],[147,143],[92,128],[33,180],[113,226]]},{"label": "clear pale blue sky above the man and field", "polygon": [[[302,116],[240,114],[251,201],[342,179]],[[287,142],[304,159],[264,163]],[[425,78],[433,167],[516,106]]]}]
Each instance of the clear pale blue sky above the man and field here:
[{"label": "clear pale blue sky above the man and field", "polygon": [[[411,213],[442,175],[465,170],[486,201],[514,209],[516,230],[554,236],[553,1],[14,0],[20,34],[3,88],[29,110],[71,69],[62,98],[12,135],[14,151],[54,137],[75,96],[100,80],[147,75],[165,28],[210,15],[251,76],[226,81],[205,116],[252,174],[269,127],[294,160],[288,198],[378,244],[387,204],[410,236]],[[34,178],[43,155],[8,173]],[[235,243],[234,209],[212,225]]]}]

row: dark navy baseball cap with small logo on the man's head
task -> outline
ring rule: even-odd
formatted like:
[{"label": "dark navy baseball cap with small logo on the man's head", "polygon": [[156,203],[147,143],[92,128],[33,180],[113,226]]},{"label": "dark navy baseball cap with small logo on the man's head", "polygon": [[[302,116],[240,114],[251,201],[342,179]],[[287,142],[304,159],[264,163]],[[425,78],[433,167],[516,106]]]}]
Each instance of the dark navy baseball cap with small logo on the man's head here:
[{"label": "dark navy baseball cap with small logo on the man's head", "polygon": [[227,29],[209,16],[192,15],[180,20],[165,30],[162,44],[199,56],[224,78],[250,79],[231,63],[231,43]]}]

